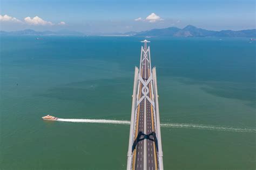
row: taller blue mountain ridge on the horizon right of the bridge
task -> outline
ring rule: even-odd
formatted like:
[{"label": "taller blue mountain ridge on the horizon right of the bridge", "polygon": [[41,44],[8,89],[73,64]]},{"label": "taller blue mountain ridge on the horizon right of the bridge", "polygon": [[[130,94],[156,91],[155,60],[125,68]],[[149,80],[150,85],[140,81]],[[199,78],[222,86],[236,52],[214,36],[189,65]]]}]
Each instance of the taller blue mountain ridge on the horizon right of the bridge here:
[{"label": "taller blue mountain ridge on the horizon right of the bridge", "polygon": [[223,30],[210,31],[199,29],[193,25],[187,25],[183,29],[168,27],[166,29],[153,29],[138,32],[134,36],[165,36],[165,37],[256,37],[256,29],[253,30]]}]

